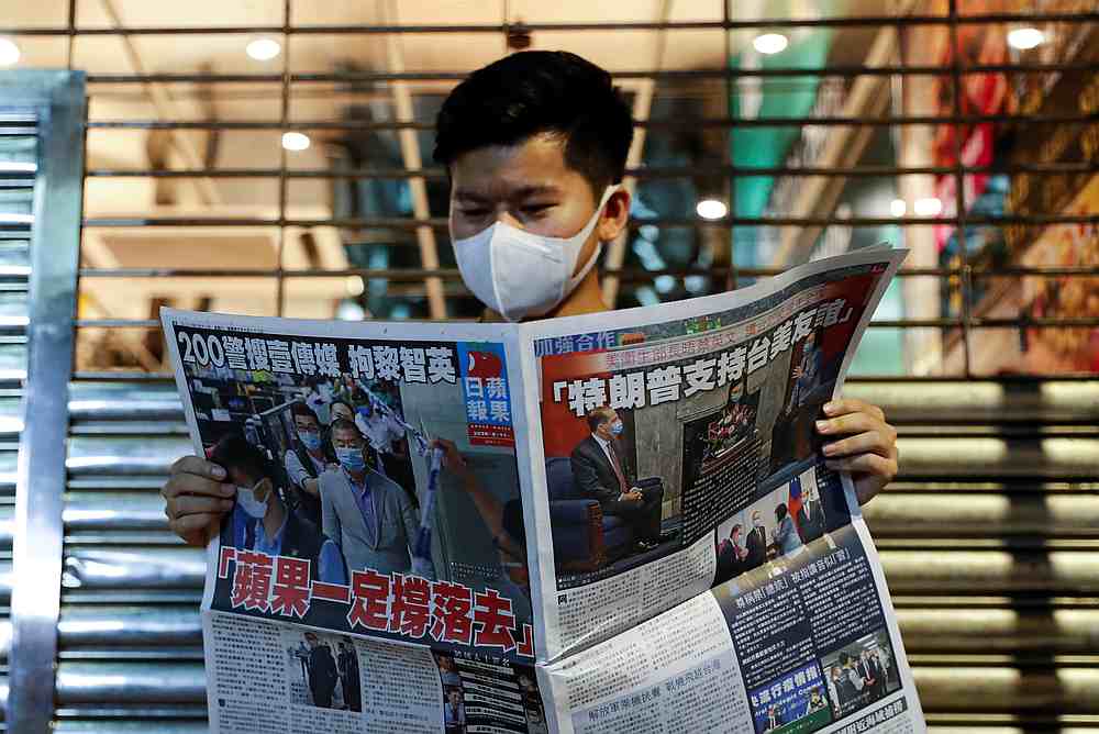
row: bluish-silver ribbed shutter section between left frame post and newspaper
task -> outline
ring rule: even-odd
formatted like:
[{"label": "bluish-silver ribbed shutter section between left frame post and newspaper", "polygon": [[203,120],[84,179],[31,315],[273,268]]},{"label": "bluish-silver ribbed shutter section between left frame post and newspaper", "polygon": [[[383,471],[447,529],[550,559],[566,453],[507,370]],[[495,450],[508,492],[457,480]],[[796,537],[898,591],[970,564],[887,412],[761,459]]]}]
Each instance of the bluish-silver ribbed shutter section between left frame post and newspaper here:
[{"label": "bluish-silver ribbed shutter section between left frame post and newspaper", "polygon": [[206,557],[159,497],[190,453],[175,383],[91,377],[70,386],[56,731],[204,732]]}]

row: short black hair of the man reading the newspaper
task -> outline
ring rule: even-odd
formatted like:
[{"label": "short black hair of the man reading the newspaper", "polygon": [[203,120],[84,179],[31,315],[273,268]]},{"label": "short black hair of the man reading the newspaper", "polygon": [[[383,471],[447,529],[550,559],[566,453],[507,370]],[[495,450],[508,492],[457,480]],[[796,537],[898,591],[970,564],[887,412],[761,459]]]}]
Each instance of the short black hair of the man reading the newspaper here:
[{"label": "short black hair of the man reading the newspaper", "polygon": [[633,120],[611,75],[564,51],[526,51],[478,69],[439,112],[435,162],[449,168],[463,153],[559,135],[566,165],[598,198],[622,180]]}]

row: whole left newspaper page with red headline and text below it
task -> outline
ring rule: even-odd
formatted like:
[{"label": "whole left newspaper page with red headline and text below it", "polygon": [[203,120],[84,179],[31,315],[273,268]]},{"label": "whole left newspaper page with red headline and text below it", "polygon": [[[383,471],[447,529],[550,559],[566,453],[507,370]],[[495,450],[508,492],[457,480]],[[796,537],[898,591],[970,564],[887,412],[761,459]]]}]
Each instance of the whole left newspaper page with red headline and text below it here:
[{"label": "whole left newspaper page with red headline and text below it", "polygon": [[511,327],[163,321],[195,449],[229,474],[211,731],[547,731]]}]

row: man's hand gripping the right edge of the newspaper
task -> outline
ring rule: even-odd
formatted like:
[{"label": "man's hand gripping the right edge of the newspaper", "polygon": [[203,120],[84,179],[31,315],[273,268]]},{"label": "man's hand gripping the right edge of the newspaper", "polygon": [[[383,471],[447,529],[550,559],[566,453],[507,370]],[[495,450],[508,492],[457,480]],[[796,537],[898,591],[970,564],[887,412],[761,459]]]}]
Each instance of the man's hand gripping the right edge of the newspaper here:
[{"label": "man's hand gripping the right edge of the newspaper", "polygon": [[824,405],[829,420],[817,421],[826,437],[846,437],[824,445],[830,469],[851,471],[859,504],[866,504],[897,476],[897,430],[877,405],[842,398]]}]

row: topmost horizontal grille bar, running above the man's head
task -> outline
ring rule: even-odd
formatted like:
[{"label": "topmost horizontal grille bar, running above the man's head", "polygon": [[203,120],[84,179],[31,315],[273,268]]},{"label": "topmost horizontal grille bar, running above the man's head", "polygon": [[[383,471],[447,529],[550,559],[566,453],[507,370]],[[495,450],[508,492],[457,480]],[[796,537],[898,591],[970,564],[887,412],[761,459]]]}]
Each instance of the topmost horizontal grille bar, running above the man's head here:
[{"label": "topmost horizontal grille bar, running above the man's head", "polygon": [[1072,23],[1095,22],[1095,13],[988,13],[980,15],[853,15],[851,18],[789,19],[767,18],[730,21],[667,21],[617,23],[477,23],[457,25],[382,25],[382,24],[314,24],[314,25],[207,25],[207,26],[135,26],[135,27],[0,27],[0,34],[11,36],[81,36],[81,35],[377,35],[384,33],[508,33],[509,31],[726,31],[736,29],[781,27],[875,27],[878,25],[983,25],[989,23]]}]

